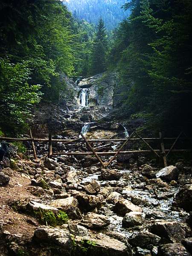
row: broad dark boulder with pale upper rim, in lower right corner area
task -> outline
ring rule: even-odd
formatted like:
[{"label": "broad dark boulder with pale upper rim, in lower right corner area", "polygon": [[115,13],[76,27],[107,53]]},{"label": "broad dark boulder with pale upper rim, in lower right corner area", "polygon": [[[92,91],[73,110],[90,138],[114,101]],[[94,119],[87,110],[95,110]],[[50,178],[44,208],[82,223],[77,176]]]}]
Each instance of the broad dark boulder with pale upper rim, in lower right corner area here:
[{"label": "broad dark boulder with pale upper rim, in lower right corner area", "polygon": [[168,243],[181,243],[190,233],[190,228],[187,224],[177,221],[162,221],[152,224],[150,232],[160,236],[163,241]]}]

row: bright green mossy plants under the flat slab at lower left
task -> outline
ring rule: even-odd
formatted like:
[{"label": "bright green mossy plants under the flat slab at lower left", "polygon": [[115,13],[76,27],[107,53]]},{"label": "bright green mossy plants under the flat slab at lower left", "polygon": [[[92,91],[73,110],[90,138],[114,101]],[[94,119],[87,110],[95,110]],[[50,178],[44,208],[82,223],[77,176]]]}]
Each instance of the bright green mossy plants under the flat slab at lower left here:
[{"label": "bright green mossy plants under the flat slab at lower left", "polygon": [[35,216],[40,218],[40,220],[44,224],[52,227],[66,224],[69,219],[67,213],[63,211],[54,213],[52,211],[45,211],[39,208],[38,211],[35,211],[34,213],[35,213]]}]

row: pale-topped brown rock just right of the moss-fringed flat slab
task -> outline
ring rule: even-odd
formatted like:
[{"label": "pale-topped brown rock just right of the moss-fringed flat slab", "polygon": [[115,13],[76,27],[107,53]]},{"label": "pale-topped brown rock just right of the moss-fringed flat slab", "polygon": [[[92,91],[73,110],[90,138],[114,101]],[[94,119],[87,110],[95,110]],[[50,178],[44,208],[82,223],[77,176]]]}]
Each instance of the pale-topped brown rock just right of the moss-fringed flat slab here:
[{"label": "pale-topped brown rock just right of the moss-fringed flat slab", "polygon": [[52,201],[51,206],[66,212],[69,218],[81,218],[81,212],[78,208],[78,201],[76,198],[69,197],[64,199],[56,199]]}]

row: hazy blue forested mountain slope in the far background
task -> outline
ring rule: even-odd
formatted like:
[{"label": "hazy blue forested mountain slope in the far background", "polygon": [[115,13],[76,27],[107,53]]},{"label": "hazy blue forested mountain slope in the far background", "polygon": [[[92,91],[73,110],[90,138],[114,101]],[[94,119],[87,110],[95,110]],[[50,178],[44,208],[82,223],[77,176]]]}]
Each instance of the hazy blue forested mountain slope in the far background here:
[{"label": "hazy blue forested mountain slope in the far background", "polygon": [[97,23],[102,17],[108,30],[115,28],[128,17],[129,12],[122,9],[128,0],[67,0],[63,3],[78,19]]}]

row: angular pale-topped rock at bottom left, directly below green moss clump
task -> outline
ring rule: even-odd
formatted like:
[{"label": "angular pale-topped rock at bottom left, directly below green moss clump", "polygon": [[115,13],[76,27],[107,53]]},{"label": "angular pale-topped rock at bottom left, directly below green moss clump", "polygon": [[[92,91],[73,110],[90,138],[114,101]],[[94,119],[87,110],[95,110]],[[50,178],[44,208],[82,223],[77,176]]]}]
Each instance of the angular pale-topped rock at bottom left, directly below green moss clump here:
[{"label": "angular pale-topped rock at bottom left, directly below green moss clump", "polygon": [[56,253],[62,253],[64,256],[71,256],[73,247],[70,232],[67,228],[38,227],[35,230],[33,240],[38,244],[41,243],[54,248]]}]

